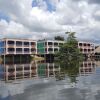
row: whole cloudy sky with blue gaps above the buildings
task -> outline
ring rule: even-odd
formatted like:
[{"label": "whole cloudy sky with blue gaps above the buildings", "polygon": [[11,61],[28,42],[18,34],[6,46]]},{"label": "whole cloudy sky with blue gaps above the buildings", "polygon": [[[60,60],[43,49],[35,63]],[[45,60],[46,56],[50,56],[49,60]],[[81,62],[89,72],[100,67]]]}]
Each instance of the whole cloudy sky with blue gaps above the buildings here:
[{"label": "whole cloudy sky with blue gaps above the buildings", "polygon": [[75,31],[100,42],[100,0],[0,0],[0,38],[53,38]]}]

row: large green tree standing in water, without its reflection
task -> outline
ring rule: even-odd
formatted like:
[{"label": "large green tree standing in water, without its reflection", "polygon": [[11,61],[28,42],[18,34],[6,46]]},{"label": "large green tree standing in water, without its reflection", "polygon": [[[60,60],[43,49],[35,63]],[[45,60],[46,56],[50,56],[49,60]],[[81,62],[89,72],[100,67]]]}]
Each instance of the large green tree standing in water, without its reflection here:
[{"label": "large green tree standing in water, without its reflection", "polygon": [[75,32],[66,32],[66,34],[68,34],[67,41],[60,47],[57,56],[60,62],[68,65],[72,61],[80,61],[82,54],[78,48],[78,41],[75,37]]}]

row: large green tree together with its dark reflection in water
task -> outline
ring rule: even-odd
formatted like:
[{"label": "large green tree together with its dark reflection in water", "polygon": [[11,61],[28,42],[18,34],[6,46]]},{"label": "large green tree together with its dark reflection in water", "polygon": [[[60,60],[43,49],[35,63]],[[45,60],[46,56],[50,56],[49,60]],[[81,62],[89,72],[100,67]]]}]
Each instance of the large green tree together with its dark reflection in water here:
[{"label": "large green tree together with its dark reflection in water", "polygon": [[67,74],[71,82],[76,82],[79,74],[79,65],[82,61],[82,54],[78,48],[78,41],[75,32],[66,32],[68,35],[66,42],[60,47],[57,53],[58,61],[65,74]]}]

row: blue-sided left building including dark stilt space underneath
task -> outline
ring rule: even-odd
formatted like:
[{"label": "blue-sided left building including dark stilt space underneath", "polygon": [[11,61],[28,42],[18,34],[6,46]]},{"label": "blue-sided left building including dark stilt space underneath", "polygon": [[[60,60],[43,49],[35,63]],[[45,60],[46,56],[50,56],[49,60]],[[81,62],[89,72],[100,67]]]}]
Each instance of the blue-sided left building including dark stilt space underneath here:
[{"label": "blue-sided left building including dark stilt space underneath", "polygon": [[28,61],[30,55],[37,54],[37,42],[28,39],[10,39],[0,40],[0,55],[5,62],[13,63],[19,61]]}]

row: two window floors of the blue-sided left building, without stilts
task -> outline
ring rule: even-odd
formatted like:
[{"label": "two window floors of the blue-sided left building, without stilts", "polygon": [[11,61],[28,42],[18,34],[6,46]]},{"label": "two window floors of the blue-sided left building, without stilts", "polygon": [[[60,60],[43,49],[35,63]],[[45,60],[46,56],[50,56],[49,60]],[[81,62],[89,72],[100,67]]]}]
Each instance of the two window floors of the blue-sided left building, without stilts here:
[{"label": "two window floors of the blue-sided left building, without stilts", "polygon": [[8,39],[0,40],[0,54],[36,54],[37,42],[28,39]]}]

